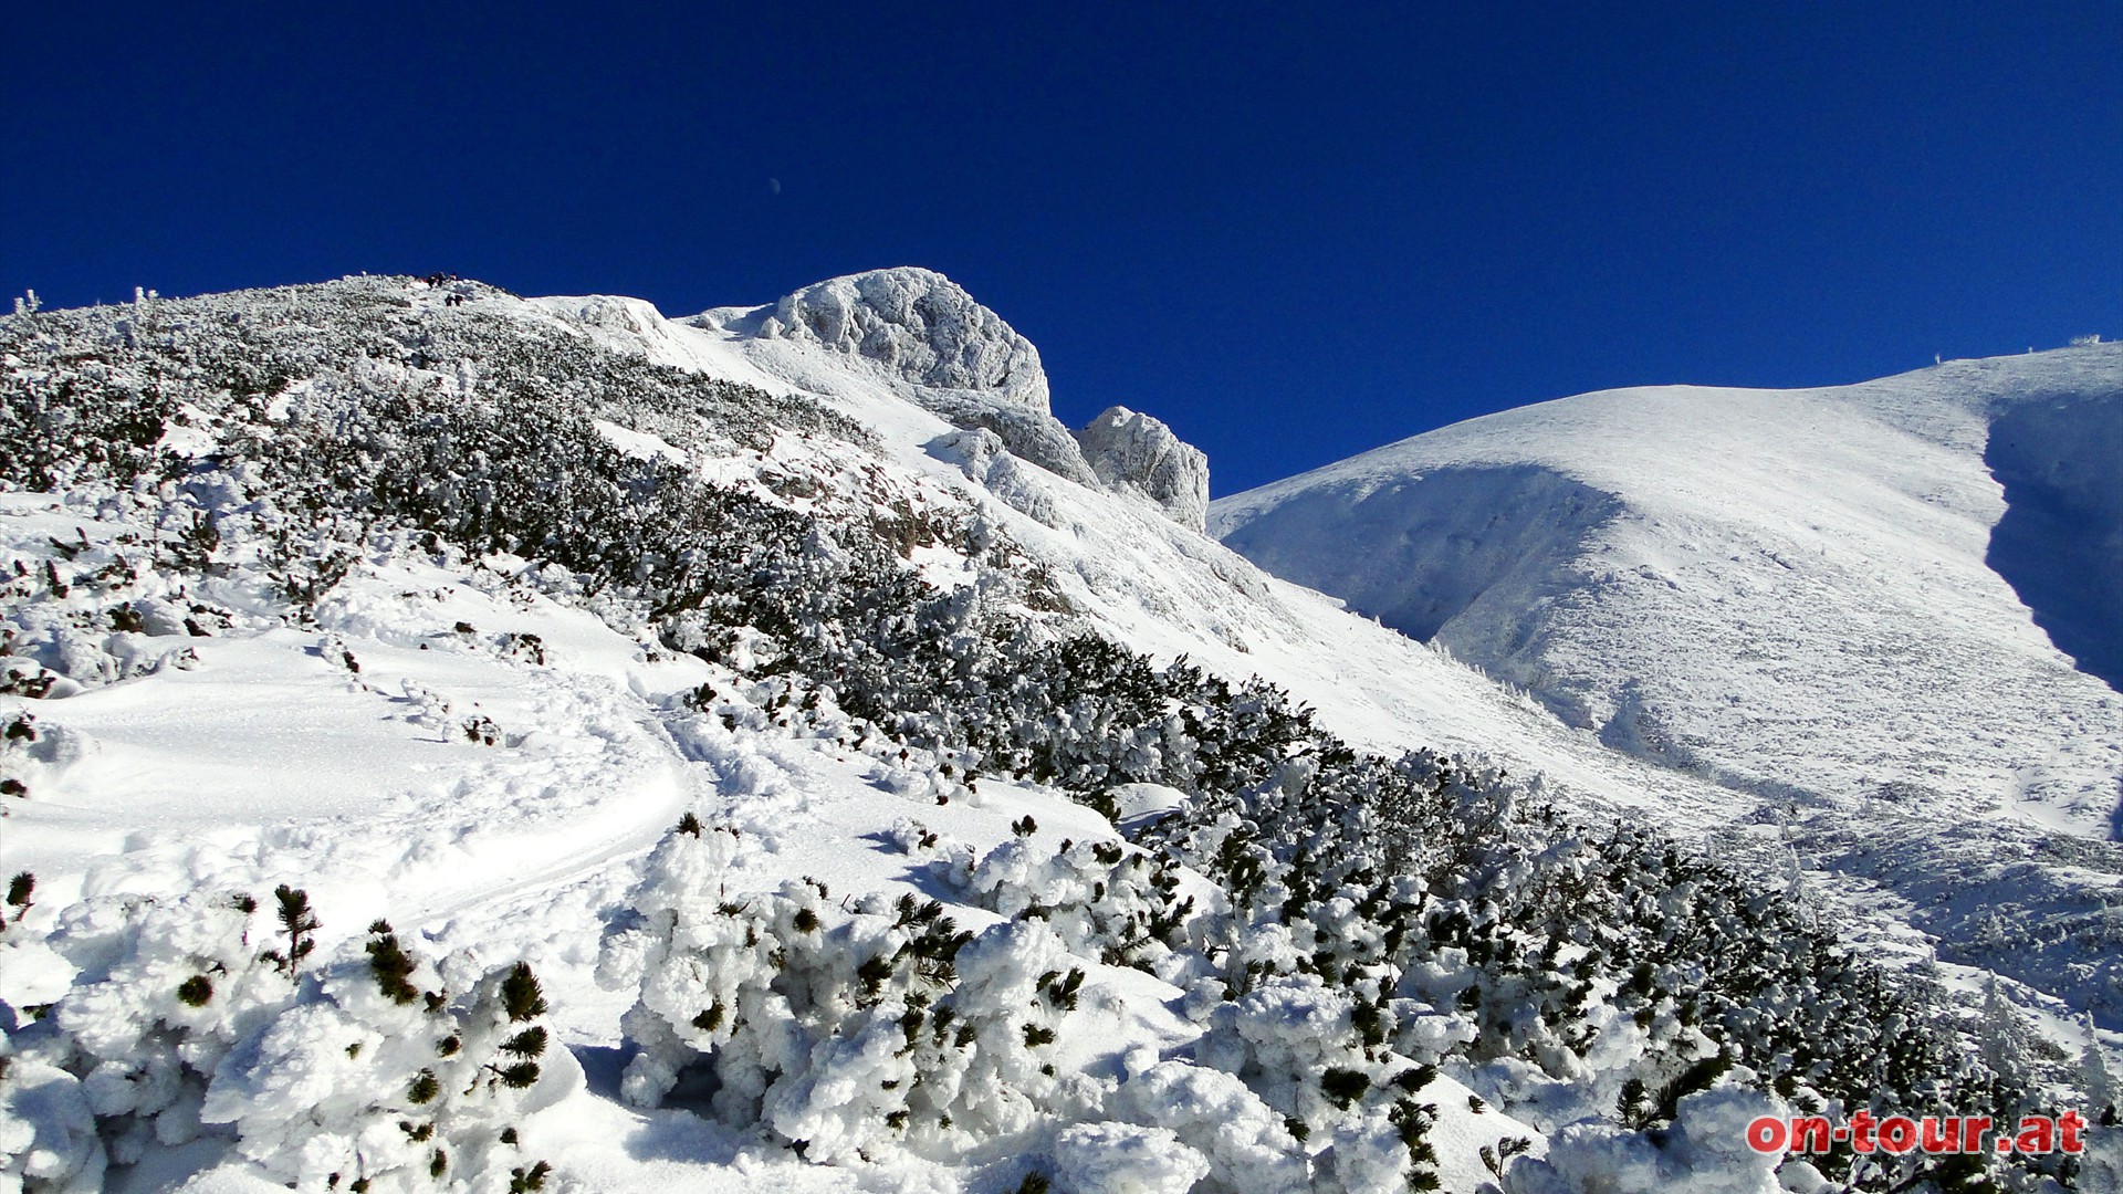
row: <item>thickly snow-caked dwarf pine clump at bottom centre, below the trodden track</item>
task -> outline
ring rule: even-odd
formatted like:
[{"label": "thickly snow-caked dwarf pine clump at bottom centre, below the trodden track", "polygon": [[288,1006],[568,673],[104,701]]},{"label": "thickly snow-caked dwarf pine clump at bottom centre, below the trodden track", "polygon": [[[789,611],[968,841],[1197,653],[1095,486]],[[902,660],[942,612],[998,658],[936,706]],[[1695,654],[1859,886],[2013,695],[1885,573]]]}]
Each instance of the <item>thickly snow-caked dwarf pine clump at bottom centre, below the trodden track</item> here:
[{"label": "thickly snow-caked dwarf pine clump at bottom centre, below the trodden track", "polygon": [[849,909],[813,882],[732,892],[741,846],[696,820],[667,835],[607,948],[601,982],[639,984],[631,1103],[701,1073],[720,1120],[822,1162],[955,1156],[1095,1105],[1049,1060],[1083,979],[1045,924],[962,933],[913,894]]}]

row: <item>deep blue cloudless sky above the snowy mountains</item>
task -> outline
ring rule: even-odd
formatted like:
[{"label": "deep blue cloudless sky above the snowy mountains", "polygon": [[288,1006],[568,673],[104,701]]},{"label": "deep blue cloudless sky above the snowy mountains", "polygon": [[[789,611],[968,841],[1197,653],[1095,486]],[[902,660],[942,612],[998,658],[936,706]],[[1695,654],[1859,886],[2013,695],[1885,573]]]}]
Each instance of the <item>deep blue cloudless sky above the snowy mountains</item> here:
[{"label": "deep blue cloudless sky above the snowy mountains", "polygon": [[635,8],[17,6],[0,295],[681,314],[919,263],[1216,493],[1586,389],[2123,336],[2115,0]]}]

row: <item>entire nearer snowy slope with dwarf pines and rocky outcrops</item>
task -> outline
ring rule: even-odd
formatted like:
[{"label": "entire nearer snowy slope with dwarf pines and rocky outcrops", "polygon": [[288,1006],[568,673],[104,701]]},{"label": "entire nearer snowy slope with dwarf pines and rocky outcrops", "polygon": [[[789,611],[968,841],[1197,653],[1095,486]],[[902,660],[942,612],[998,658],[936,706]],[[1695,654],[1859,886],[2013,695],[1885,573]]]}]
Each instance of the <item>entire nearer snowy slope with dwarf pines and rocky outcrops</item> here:
[{"label": "entire nearer snowy slope with dwarf pines and rocky outcrops", "polygon": [[1754,1111],[2074,1077],[930,272],[36,312],[0,387],[0,1188],[1768,1194]]}]

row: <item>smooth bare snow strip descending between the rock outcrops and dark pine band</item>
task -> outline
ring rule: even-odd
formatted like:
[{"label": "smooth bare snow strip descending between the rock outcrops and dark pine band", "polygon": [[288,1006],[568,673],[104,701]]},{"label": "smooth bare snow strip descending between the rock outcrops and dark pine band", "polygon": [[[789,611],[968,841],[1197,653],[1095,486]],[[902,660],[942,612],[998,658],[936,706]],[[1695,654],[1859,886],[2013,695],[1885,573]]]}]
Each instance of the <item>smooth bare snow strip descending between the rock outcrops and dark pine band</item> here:
[{"label": "smooth bare snow strip descending between the rock outcrops and dark pine band", "polygon": [[707,374],[834,399],[879,433],[894,465],[1004,525],[1068,601],[1119,642],[1159,659],[1189,656],[1229,678],[1274,680],[1365,748],[1495,754],[1541,771],[1588,809],[1637,805],[1681,826],[1718,822],[1713,786],[1673,780],[1571,733],[1480,671],[1267,576],[1132,493],[1072,484],[994,448],[968,448],[951,423],[930,412],[940,404],[928,387],[868,359],[849,363],[819,344],[760,338],[752,331],[756,319],[732,308],[671,323],[643,351],[675,348],[679,355],[667,359]]}]

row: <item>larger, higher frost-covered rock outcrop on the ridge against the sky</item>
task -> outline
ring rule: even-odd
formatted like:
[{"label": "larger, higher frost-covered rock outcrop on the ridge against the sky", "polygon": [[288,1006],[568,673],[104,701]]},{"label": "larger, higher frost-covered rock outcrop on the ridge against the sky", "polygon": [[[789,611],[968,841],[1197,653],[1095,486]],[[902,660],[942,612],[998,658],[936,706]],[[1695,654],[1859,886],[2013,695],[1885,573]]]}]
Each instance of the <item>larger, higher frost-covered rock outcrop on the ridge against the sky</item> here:
[{"label": "larger, higher frost-covered rock outcrop on the ridge against the sky", "polygon": [[902,266],[813,283],[777,302],[758,336],[819,344],[919,387],[977,391],[1047,414],[1038,348],[934,270]]}]

